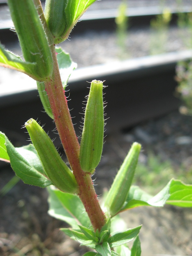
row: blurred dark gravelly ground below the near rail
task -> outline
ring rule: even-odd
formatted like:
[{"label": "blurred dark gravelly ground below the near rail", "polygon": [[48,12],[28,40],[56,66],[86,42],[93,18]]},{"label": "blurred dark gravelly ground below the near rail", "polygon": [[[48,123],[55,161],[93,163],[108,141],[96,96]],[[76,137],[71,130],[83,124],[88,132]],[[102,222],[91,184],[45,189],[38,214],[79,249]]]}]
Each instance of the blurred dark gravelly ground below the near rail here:
[{"label": "blurred dark gravelly ground below the near rail", "polygon": [[[181,163],[189,172],[192,169],[191,122],[192,117],[174,111],[157,120],[138,124],[126,132],[109,134],[94,176],[98,195],[109,188],[132,141],[142,144],[141,158],[147,158],[150,149],[162,161],[170,159],[175,166],[175,178]],[[3,165],[0,188],[13,175],[10,167]],[[81,256],[86,252],[86,248],[79,247],[59,230],[66,227],[65,223],[47,214],[47,197],[46,189],[19,181],[0,198],[0,255]],[[143,224],[140,231],[142,256],[192,255],[190,208],[168,205],[164,208],[140,207],[124,212],[122,217],[129,228]]]}]

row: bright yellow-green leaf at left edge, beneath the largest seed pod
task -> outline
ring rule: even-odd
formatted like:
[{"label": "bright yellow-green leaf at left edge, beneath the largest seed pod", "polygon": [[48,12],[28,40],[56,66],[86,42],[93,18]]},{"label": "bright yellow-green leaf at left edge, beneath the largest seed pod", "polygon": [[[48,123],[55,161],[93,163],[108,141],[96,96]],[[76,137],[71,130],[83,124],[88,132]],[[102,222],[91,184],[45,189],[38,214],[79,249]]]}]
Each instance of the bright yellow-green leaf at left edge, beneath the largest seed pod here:
[{"label": "bright yellow-green leaf at left edge, beneath the largest seed pod", "polygon": [[12,52],[6,51],[2,44],[0,44],[0,66],[15,69],[17,71],[25,73],[33,79],[36,79],[36,76],[34,76],[36,63],[22,61],[20,56],[15,55]]}]

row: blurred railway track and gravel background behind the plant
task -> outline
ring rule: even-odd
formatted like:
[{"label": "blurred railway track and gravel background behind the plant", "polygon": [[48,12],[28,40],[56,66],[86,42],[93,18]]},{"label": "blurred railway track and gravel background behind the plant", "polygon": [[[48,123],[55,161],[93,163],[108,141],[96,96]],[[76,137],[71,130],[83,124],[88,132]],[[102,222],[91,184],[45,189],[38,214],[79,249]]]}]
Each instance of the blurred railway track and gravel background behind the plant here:
[{"label": "blurred railway track and gravel background behind the plant", "polygon": [[[45,1],[42,1],[44,7]],[[0,42],[22,57],[6,1],[0,0]],[[156,194],[172,178],[192,184],[192,1],[101,0],[81,17],[59,46],[77,69],[68,81],[69,109],[77,135],[82,102],[92,79],[105,80],[107,118],[103,157],[94,178],[108,189],[133,141],[142,144],[134,183]],[[31,78],[0,67],[0,131],[16,147],[29,143],[22,125],[38,120],[54,139]],[[85,251],[47,214],[47,192],[23,184],[0,162],[0,255],[80,256]],[[190,209],[142,207],[123,215],[143,224],[143,256],[192,255]]]}]

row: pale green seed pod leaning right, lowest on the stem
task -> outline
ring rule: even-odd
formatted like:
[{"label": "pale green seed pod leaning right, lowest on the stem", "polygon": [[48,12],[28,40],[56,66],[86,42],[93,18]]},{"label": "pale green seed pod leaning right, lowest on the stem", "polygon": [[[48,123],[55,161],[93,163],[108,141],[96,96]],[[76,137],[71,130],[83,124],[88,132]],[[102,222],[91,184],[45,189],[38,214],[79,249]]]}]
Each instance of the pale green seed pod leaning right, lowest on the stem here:
[{"label": "pale green seed pod leaning right, lowest on the stem", "polygon": [[131,187],[132,179],[137,166],[141,145],[137,142],[132,147],[121,165],[115,180],[108,192],[105,206],[111,216],[116,215],[122,208]]}]

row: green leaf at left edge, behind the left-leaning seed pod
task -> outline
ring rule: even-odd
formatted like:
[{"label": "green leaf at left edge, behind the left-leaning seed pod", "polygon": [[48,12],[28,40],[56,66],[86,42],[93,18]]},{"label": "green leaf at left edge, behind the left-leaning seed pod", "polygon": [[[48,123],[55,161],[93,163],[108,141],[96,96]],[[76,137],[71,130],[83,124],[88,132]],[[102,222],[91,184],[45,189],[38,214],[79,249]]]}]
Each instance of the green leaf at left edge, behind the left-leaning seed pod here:
[{"label": "green leaf at left edge, behind the left-leaning seed pod", "polygon": [[7,137],[3,133],[0,134],[4,136],[11,167],[24,183],[41,188],[52,184],[51,181],[44,176],[43,167],[32,145],[14,148]]}]

